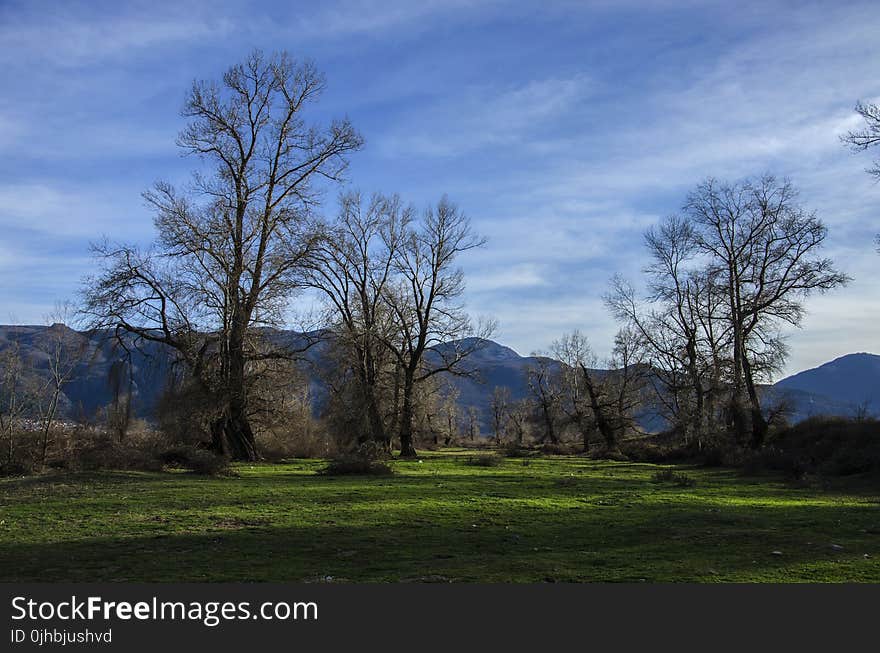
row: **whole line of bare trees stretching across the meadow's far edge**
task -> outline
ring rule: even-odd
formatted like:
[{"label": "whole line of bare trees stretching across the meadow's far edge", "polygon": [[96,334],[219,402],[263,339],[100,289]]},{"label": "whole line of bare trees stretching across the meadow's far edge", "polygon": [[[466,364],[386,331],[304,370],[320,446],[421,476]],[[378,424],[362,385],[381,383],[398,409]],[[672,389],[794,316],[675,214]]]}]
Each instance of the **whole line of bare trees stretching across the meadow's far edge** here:
[{"label": "whole line of bare trees stretching across the meadow's far edge", "polygon": [[[195,82],[178,138],[197,161],[191,182],[145,193],[155,241],[95,244],[97,271],[83,287],[84,328],[112,334],[123,353],[173,352],[160,430],[227,459],[256,460],[258,436],[279,433],[319,433],[342,450],[398,446],[402,456],[441,434],[446,444],[480,435],[449,378],[473,373],[468,357],[494,328],[473,324],[461,304],[459,257],[484,239],[445,196],[420,210],[397,195],[346,191],[335,216],[323,215],[363,146],[347,119],[307,119],[324,87],[311,63],[258,51],[218,82]],[[496,390],[492,437],[558,445],[573,433],[584,451],[598,442],[613,453],[650,408],[685,445],[761,448],[775,412],[759,387],[785,361],[783,329],[800,325],[810,295],[848,281],[821,254],[826,236],[788,180],[703,182],[645,234],[644,279],[612,281],[605,303],[620,330],[611,356],[599,361],[579,331],[561,336],[529,370],[527,399]],[[271,328],[303,293],[318,300],[320,328],[290,347]],[[319,421],[303,368],[311,347],[332,361],[318,370],[329,391]],[[74,349],[47,352],[56,363],[39,395],[43,464]],[[26,393],[22,361],[7,359],[0,436],[11,460]],[[105,415],[118,442],[132,396],[121,360]]]}]

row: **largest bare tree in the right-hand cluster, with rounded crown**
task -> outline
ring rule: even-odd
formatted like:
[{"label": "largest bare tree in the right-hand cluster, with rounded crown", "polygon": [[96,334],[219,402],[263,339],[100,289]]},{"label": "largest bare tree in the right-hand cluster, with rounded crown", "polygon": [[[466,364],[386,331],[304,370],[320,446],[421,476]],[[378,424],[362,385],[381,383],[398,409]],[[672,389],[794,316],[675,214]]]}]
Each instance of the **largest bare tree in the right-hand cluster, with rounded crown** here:
[{"label": "largest bare tree in the right-hand cluster, with rounded crown", "polygon": [[784,360],[779,326],[798,326],[803,299],[849,278],[818,256],[827,236],[822,221],[797,203],[788,180],[766,175],[735,184],[709,179],[692,192],[685,213],[711,278],[722,284],[732,341],[733,424],[747,429],[741,397],[747,395],[751,443],[763,444],[767,421],[757,391]]}]

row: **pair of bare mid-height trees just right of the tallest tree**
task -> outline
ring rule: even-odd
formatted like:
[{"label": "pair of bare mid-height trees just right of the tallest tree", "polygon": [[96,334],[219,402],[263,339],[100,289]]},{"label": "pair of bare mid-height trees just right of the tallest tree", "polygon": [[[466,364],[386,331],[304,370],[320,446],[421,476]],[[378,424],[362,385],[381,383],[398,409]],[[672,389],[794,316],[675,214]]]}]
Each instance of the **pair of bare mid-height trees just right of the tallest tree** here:
[{"label": "pair of bare mid-height trees just right of the tallest tree", "polygon": [[348,372],[341,405],[367,417],[360,442],[390,449],[396,437],[401,455],[414,456],[420,389],[441,373],[469,373],[466,359],[493,325],[473,325],[460,306],[457,259],[483,242],[445,197],[423,212],[396,196],[342,197],[307,282],[324,297],[339,369]]}]

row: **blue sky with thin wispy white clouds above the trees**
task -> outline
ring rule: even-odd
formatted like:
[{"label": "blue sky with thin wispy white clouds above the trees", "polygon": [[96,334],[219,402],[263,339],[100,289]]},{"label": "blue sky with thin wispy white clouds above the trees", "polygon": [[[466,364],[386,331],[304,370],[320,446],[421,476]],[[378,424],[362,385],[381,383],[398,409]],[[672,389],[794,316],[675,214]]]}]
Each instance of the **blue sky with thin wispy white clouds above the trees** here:
[{"label": "blue sky with thin wispy white clouds above the trees", "polygon": [[194,166],[189,84],[259,47],[326,73],[316,115],[366,138],[353,188],[471,217],[467,305],[520,353],[574,328],[607,353],[601,296],[638,278],[644,229],[706,176],[768,171],[855,278],[809,301],[788,370],[880,352],[880,186],[839,142],[880,100],[874,3],[121,4],[0,0],[0,321],[73,296],[90,240],[151,238],[140,193]]}]

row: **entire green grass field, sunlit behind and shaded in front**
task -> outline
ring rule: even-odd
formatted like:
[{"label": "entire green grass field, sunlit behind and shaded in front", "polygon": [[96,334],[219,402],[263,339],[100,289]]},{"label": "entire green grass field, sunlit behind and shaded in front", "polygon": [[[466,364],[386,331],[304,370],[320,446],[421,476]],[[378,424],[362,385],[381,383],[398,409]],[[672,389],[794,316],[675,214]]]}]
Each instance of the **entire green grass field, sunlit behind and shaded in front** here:
[{"label": "entire green grass field, sunlit behind and shaded in front", "polygon": [[[576,456],[0,481],[2,581],[880,582],[880,488]],[[841,548],[842,547],[842,548]]]}]

